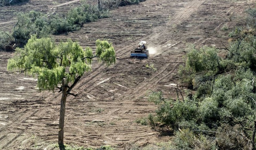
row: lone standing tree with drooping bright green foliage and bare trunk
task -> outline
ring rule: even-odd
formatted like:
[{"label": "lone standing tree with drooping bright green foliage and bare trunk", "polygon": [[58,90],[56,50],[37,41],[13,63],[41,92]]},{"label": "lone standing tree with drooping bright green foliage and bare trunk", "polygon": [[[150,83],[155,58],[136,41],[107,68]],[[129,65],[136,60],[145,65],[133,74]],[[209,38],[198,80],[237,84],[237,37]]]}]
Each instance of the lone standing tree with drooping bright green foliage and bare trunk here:
[{"label": "lone standing tree with drooping bright green foliage and bare trunk", "polygon": [[8,60],[7,70],[25,72],[37,77],[40,91],[62,92],[58,131],[60,150],[65,149],[64,116],[67,95],[77,84],[81,76],[91,70],[91,62],[97,58],[107,65],[115,63],[115,50],[107,41],[96,41],[96,51],[87,47],[85,50],[76,42],[68,40],[56,45],[50,38],[37,39],[32,36],[24,48],[16,48],[15,56]]}]

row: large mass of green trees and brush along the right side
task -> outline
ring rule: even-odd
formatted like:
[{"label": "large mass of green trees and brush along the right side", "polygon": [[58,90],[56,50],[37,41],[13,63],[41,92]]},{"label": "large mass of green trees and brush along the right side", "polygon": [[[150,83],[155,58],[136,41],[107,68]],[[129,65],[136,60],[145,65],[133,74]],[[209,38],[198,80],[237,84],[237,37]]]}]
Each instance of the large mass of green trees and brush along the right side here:
[{"label": "large mass of green trees and brush along the right side", "polygon": [[152,127],[165,126],[175,135],[162,149],[255,150],[256,9],[247,10],[246,26],[230,33],[220,50],[188,47],[179,77],[188,89],[184,99],[166,99],[154,92],[158,105],[148,116]]}]

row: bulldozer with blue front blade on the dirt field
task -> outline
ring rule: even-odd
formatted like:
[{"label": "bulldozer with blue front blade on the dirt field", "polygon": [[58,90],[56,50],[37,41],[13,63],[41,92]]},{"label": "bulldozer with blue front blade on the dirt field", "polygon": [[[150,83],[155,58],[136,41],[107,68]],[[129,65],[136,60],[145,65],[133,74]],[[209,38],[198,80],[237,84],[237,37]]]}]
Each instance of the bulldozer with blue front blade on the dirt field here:
[{"label": "bulldozer with blue front blade on the dirt field", "polygon": [[148,48],[147,42],[145,41],[139,42],[138,47],[135,48],[133,51],[131,51],[131,57],[148,58],[149,52],[147,48]]}]

